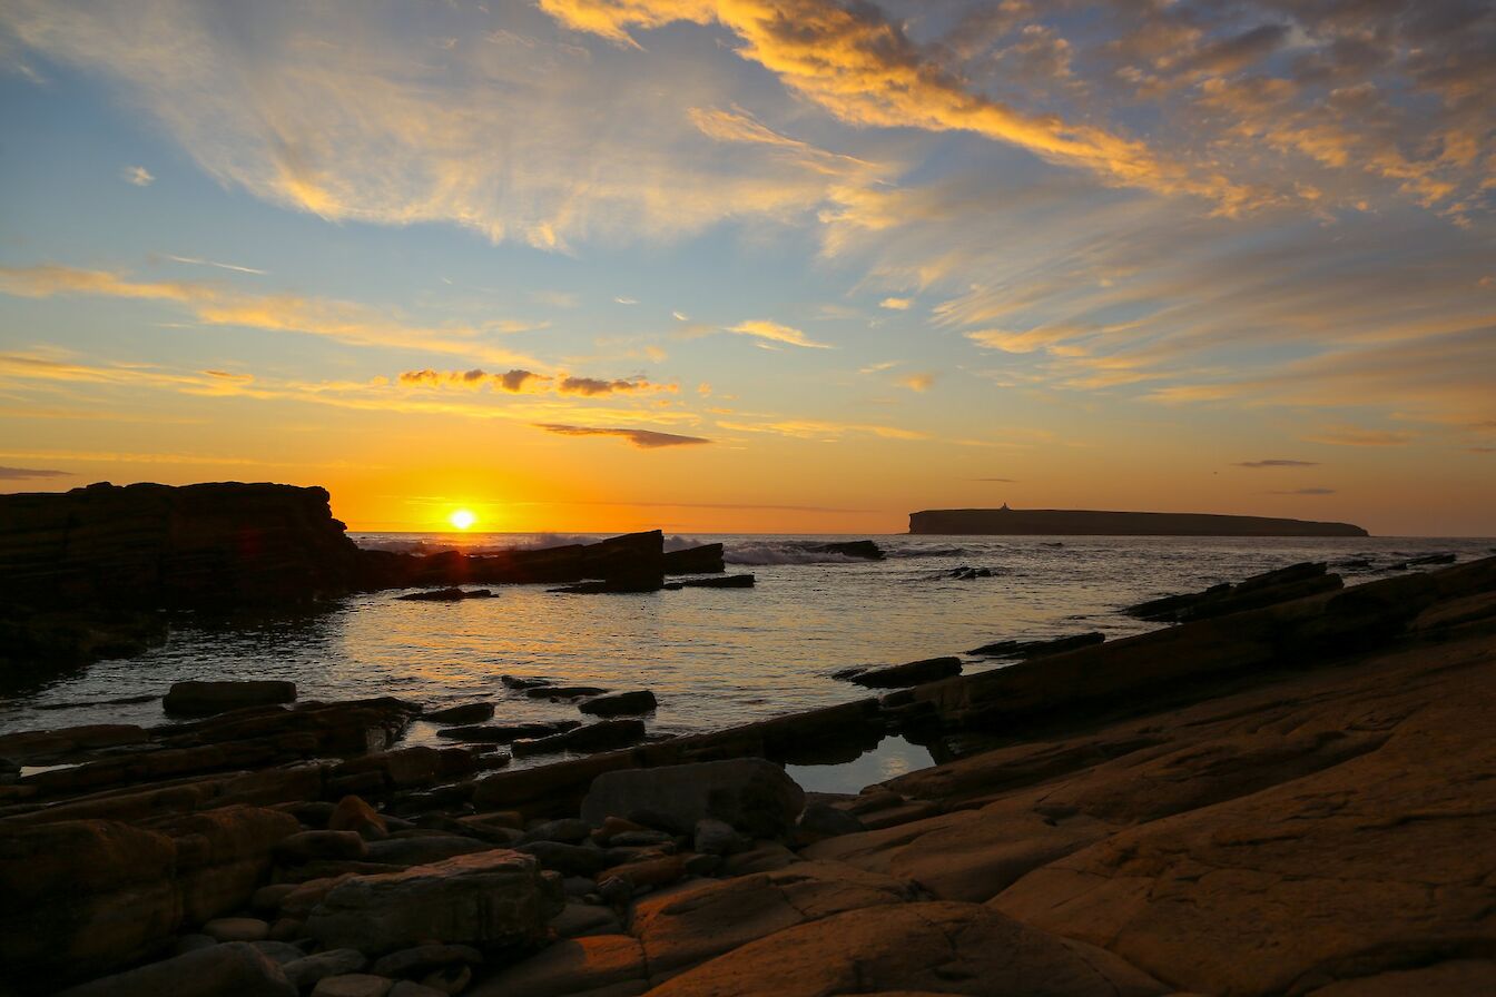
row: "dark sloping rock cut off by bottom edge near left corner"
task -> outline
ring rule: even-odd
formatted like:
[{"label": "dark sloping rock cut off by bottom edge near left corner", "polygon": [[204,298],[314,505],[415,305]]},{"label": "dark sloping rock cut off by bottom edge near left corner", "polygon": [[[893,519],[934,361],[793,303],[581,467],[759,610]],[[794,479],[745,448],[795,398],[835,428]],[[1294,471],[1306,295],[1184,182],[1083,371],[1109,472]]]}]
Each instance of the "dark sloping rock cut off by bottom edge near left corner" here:
[{"label": "dark sloping rock cut off by bottom edge near left corner", "polygon": [[244,942],[214,945],[61,991],[58,997],[296,997],[281,967]]}]

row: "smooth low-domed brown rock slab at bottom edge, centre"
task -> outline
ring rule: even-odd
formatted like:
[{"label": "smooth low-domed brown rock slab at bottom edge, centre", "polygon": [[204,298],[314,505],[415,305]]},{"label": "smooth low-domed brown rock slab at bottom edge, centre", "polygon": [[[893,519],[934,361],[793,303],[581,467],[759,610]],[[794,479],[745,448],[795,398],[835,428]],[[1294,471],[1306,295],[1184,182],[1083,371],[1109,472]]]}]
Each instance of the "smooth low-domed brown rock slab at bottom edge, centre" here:
[{"label": "smooth low-domed brown rock slab at bottom edge, centre", "polygon": [[651,997],[833,997],[880,991],[1150,997],[1171,993],[1089,945],[977,904],[866,907],[751,942],[654,988]]}]

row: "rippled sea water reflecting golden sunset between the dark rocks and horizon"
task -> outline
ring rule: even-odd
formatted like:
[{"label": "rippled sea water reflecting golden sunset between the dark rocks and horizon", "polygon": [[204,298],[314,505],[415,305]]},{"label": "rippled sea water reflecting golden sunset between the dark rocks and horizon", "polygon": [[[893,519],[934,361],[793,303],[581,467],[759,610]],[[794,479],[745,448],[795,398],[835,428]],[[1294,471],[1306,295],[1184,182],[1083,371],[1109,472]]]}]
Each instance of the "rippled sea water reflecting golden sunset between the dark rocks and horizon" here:
[{"label": "rippled sea water reflecting golden sunset between the dark rocks and horizon", "polygon": [[[492,550],[594,537],[355,535],[362,546]],[[429,706],[498,704],[497,720],[577,717],[574,706],[509,692],[503,674],[545,676],[612,689],[648,688],[660,709],[652,732],[687,734],[868,695],[829,673],[959,655],[1001,638],[1098,629],[1109,640],[1153,625],[1123,605],[1189,592],[1299,561],[1369,561],[1343,571],[1355,584],[1396,562],[1432,553],[1487,556],[1492,540],[1346,538],[1043,538],[877,537],[887,561],[817,555],[815,540],[844,537],[688,537],[669,546],[723,541],[729,571],[757,575],[752,589],[685,589],[649,595],[552,595],[501,586],[498,598],[402,602],[396,592],[359,595],[314,616],[184,622],[166,646],[130,661],[103,661],[0,701],[0,732],[75,723],[162,723],[159,703],[102,700],[163,694],[184,679],[290,679],[301,700],[396,695]],[[953,571],[989,568],[957,580]],[[968,673],[992,662],[969,659]],[[67,709],[45,709],[66,706]],[[413,725],[408,743],[443,743]],[[554,761],[551,758],[536,759]],[[889,765],[905,765],[904,756]],[[869,762],[875,767],[877,762]],[[898,771],[869,771],[875,779]]]}]

